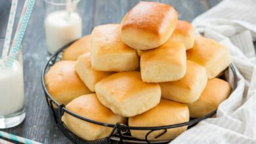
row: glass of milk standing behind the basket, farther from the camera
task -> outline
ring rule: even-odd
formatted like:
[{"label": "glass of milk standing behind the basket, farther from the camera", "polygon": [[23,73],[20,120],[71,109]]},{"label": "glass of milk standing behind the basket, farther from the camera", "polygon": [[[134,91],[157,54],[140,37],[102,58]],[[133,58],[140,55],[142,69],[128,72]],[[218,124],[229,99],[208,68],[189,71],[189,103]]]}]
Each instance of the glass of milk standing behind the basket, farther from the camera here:
[{"label": "glass of milk standing behind the basket, farther from the camera", "polygon": [[82,36],[82,5],[80,0],[44,0],[45,36],[48,52]]}]

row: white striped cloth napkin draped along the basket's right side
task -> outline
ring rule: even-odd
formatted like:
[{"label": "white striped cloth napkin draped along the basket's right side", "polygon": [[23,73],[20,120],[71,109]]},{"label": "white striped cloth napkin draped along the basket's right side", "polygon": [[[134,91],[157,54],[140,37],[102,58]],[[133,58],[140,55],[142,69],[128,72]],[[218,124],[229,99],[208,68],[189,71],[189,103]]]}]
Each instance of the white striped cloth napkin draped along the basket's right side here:
[{"label": "white striped cloth napkin draped along the basket's right side", "polygon": [[228,48],[238,87],[219,105],[217,118],[203,120],[171,143],[256,143],[256,1],[222,1],[192,24]]}]

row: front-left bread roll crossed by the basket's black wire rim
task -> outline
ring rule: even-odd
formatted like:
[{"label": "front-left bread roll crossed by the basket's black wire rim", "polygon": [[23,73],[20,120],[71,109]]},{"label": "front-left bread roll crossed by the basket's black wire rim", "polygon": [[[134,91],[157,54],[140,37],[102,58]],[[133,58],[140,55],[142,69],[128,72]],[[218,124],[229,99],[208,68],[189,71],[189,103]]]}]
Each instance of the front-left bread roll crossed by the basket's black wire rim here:
[{"label": "front-left bread roll crossed by the basket's black wire rim", "polygon": [[[75,98],[66,105],[66,108],[73,113],[84,118],[89,118],[98,122],[116,124],[125,123],[126,118],[112,113],[112,111],[98,101],[96,94],[87,94]],[[64,113],[62,121],[68,128],[82,139],[95,140],[107,137],[113,128],[99,126],[85,120],[75,118],[68,113]]]}]

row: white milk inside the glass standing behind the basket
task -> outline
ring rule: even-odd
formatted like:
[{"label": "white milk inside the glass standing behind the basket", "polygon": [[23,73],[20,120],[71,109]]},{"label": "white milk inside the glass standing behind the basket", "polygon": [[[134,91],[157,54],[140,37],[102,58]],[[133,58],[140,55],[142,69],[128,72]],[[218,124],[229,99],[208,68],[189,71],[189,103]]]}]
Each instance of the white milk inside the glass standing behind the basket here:
[{"label": "white milk inside the glass standing behind the basket", "polygon": [[68,14],[68,11],[60,10],[50,13],[45,19],[48,51],[54,53],[58,48],[81,37],[81,25],[82,20],[76,12]]}]

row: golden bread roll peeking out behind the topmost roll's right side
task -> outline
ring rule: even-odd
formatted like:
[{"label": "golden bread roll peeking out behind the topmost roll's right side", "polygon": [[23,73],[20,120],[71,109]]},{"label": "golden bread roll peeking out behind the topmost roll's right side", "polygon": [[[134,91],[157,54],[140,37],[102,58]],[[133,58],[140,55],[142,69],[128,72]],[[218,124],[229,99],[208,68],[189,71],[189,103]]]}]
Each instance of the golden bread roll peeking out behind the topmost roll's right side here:
[{"label": "golden bread roll peeking out behind the topmost roll's right side", "polygon": [[192,24],[178,20],[177,26],[168,41],[179,42],[185,45],[186,50],[194,46],[195,32]]}]

